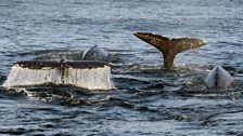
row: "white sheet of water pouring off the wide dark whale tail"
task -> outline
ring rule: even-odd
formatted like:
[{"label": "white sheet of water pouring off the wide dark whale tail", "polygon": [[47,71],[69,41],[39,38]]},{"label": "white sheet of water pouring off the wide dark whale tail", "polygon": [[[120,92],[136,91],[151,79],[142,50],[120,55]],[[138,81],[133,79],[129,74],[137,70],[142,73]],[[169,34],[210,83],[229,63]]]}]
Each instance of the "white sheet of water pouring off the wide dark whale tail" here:
[{"label": "white sheet of water pouring off the wide dark whale tail", "polygon": [[42,85],[52,84],[68,84],[88,90],[111,90],[113,83],[111,81],[111,68],[108,66],[79,69],[79,68],[44,68],[29,69],[20,66],[12,66],[4,87]]}]

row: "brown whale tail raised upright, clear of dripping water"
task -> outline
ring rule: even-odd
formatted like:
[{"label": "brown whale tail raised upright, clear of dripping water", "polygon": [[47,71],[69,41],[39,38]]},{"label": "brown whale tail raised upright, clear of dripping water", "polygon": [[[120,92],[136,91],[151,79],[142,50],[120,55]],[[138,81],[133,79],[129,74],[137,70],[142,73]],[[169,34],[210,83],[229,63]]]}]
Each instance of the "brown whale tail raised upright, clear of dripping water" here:
[{"label": "brown whale tail raised upright, clear of dripping water", "polygon": [[162,52],[164,56],[164,67],[167,70],[172,67],[175,56],[178,53],[205,44],[203,40],[195,38],[169,39],[159,35],[149,32],[135,32],[133,35]]}]

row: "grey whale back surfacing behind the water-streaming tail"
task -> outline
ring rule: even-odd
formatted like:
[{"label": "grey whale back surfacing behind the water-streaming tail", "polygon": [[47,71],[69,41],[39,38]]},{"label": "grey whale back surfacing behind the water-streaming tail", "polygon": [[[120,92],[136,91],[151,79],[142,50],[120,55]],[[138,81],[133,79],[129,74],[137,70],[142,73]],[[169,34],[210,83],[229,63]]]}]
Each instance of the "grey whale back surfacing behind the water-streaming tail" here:
[{"label": "grey whale back surfacing behind the water-streaming tail", "polygon": [[108,56],[103,49],[99,47],[98,45],[94,45],[84,53],[82,59],[108,62]]}]

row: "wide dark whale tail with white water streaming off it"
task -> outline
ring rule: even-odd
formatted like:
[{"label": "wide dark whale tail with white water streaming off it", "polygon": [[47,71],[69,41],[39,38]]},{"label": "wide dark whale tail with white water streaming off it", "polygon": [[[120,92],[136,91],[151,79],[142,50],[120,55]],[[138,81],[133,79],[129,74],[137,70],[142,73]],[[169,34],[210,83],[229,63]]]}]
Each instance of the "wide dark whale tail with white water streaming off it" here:
[{"label": "wide dark whale tail with white water streaming off it", "polygon": [[26,60],[15,63],[4,87],[73,85],[88,90],[111,90],[111,67],[102,62]]}]

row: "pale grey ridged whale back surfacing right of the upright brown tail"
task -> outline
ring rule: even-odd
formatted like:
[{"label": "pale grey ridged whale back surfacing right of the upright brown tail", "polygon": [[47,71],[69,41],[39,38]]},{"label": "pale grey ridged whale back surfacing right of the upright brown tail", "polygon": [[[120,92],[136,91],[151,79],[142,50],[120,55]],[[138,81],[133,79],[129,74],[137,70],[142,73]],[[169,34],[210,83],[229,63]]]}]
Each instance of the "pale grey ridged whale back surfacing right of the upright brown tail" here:
[{"label": "pale grey ridged whale back surfacing right of the upright brown tail", "polygon": [[221,66],[216,66],[204,80],[208,89],[227,89],[233,83],[233,77],[230,76]]}]

